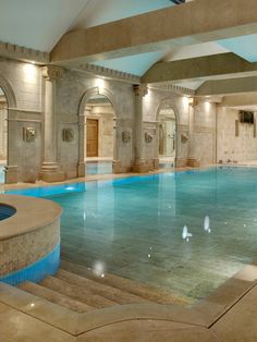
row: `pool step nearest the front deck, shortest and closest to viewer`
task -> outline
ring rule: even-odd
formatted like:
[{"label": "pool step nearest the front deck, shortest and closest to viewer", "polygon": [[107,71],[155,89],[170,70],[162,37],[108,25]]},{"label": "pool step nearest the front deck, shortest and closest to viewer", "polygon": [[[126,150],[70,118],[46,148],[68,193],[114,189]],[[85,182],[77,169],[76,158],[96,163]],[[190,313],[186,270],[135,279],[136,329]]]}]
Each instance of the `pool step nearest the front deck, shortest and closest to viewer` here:
[{"label": "pool step nearest the front deck, shortest and closest to viewer", "polygon": [[60,292],[47,289],[45,286],[41,286],[39,284],[33,283],[29,281],[23,282],[17,288],[37,297],[40,297],[48,302],[66,307],[70,310],[76,312],[78,314],[88,313],[89,310],[95,309],[95,307],[91,307],[85,303],[73,300],[66,295],[61,294]]}]

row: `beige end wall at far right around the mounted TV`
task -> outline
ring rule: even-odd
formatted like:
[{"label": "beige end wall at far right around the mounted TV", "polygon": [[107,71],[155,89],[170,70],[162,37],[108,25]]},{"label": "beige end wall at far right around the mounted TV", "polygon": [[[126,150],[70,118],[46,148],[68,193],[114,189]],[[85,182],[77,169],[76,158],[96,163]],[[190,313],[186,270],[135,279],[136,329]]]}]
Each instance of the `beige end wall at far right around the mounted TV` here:
[{"label": "beige end wall at far right around the mounted TV", "polygon": [[218,108],[218,161],[257,160],[257,138],[254,136],[254,124],[240,123],[240,136],[235,136],[235,120],[238,120],[238,110]]}]

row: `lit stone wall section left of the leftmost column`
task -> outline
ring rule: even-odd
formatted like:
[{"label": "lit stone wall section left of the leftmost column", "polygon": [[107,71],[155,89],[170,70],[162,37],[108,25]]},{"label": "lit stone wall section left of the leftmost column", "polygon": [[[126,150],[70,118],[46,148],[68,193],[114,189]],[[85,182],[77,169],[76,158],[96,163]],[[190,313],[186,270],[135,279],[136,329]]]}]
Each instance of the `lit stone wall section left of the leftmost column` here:
[{"label": "lit stone wall section left of the leftmost column", "polygon": [[[33,64],[0,58],[0,86],[9,105],[7,182],[34,182],[41,166],[41,71]],[[24,142],[26,127],[35,129],[35,141]]]}]

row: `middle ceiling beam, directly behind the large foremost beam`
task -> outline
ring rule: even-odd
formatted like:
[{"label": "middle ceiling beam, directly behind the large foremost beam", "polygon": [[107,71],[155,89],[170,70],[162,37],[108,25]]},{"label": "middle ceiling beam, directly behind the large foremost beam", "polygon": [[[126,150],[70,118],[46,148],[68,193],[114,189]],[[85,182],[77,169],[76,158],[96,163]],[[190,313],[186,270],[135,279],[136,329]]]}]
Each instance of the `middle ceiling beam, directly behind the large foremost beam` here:
[{"label": "middle ceiling beam, directly behind the large foremost beam", "polygon": [[192,82],[221,77],[257,75],[257,63],[249,63],[234,53],[221,53],[152,65],[143,83]]}]

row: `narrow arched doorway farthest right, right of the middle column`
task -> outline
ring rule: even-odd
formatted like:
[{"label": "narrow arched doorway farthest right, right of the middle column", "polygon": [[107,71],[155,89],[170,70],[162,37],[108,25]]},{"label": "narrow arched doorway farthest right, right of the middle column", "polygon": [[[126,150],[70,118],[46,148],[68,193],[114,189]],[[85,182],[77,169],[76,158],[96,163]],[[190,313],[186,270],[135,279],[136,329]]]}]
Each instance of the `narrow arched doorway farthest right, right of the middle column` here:
[{"label": "narrow arched doorway farthest right, right of the middle column", "polygon": [[169,105],[158,115],[158,158],[160,168],[174,168],[176,157],[176,115]]}]

